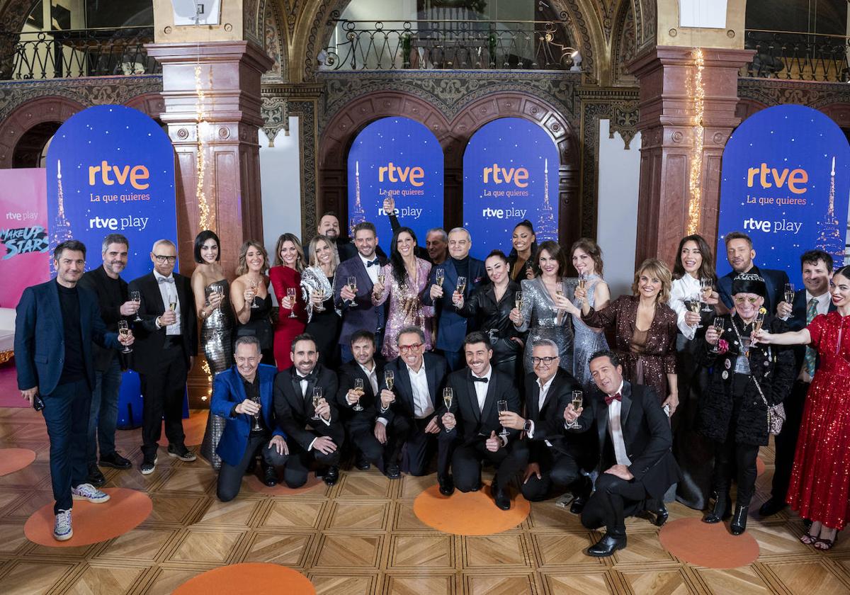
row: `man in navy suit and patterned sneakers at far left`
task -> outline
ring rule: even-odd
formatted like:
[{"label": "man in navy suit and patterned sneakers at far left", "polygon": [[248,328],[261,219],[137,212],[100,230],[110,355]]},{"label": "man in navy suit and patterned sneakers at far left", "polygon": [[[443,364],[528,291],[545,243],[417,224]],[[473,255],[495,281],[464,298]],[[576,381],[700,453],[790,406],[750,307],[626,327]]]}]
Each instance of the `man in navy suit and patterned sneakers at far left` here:
[{"label": "man in navy suit and patterned sneakers at far left", "polygon": [[[86,265],[86,246],[64,241],[54,250],[56,279],[27,287],[20,297],[14,331],[18,388],[32,405],[43,403],[50,438],[50,481],[54,492],[54,539],[71,539],[74,500],[95,503],[109,495],[88,483],[88,413],[94,388],[92,343],[117,349],[132,334],[106,331],[98,297],[77,286]],[[39,397],[40,395],[40,397]]]}]

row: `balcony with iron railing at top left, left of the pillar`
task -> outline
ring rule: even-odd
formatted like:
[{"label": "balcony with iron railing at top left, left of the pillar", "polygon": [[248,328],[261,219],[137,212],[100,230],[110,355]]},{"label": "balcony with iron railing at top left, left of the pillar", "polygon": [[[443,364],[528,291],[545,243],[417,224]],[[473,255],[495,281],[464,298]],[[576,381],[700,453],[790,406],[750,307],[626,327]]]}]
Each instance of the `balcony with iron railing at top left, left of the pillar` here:
[{"label": "balcony with iron railing at top left, left of the pillar", "polygon": [[0,78],[13,80],[156,74],[152,26],[0,32]]}]

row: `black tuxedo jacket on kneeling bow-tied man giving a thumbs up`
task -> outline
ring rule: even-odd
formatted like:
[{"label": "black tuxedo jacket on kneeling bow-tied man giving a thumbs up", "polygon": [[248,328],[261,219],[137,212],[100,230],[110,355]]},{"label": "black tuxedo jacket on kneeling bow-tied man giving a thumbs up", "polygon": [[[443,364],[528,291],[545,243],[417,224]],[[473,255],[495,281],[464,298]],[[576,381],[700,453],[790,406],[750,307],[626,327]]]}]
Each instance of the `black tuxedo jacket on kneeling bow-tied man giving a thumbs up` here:
[{"label": "black tuxedo jacket on kneeling bow-tied man giving a thumbs up", "polygon": [[[507,401],[507,411],[519,413],[519,392],[513,384],[513,378],[507,376],[496,368],[490,366],[490,381],[487,382],[487,397],[484,399],[484,407],[479,408],[478,396],[473,386],[473,372],[469,368],[453,371],[449,374],[447,387],[454,390],[454,399],[451,400],[451,413],[457,421],[456,432],[464,444],[476,441],[484,441],[490,438],[490,433],[501,432],[499,423],[498,401]],[[443,427],[443,414],[445,413],[445,402],[440,395],[440,406],[437,408],[439,426]],[[508,429],[508,444],[513,444],[519,439],[519,430]]]}]

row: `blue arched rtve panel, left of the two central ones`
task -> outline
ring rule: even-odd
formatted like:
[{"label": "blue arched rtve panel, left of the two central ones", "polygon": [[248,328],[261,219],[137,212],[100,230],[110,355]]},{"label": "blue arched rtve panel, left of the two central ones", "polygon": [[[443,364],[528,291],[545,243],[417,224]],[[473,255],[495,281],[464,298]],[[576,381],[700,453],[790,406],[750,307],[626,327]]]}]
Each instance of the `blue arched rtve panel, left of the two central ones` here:
[{"label": "blue arched rtve panel, left of the two central ones", "polygon": [[425,245],[428,229],[443,226],[443,150],[419,122],[388,117],[360,131],[348,151],[348,234],[362,221],[377,228],[390,252],[393,231],[383,201],[395,199],[399,224],[416,232]]}]

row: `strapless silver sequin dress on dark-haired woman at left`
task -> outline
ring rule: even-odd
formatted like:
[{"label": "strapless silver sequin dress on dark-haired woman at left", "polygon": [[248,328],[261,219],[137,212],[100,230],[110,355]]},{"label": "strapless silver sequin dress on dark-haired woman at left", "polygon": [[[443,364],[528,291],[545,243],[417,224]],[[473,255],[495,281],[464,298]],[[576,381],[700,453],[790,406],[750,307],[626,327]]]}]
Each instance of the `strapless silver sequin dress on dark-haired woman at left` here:
[{"label": "strapless silver sequin dress on dark-haired woman at left", "polygon": [[[234,327],[233,308],[230,306],[230,284],[228,280],[222,279],[206,286],[204,295],[207,297],[207,304],[214,286],[220,286],[221,291],[224,292],[221,306],[212,310],[212,314],[204,319],[201,326],[201,346],[213,377],[233,364],[233,345],[230,335]],[[222,432],[224,432],[224,418],[210,413],[207,418],[207,431],[201,443],[201,456],[210,462],[213,469],[221,467],[221,458],[215,450]]]}]

